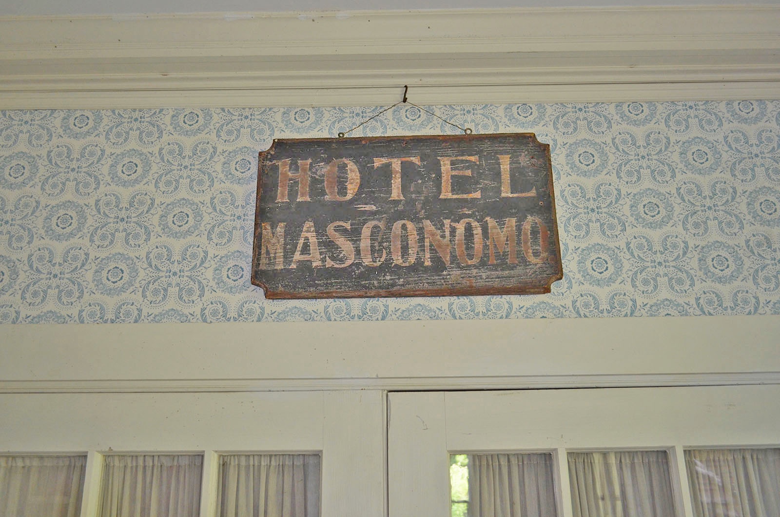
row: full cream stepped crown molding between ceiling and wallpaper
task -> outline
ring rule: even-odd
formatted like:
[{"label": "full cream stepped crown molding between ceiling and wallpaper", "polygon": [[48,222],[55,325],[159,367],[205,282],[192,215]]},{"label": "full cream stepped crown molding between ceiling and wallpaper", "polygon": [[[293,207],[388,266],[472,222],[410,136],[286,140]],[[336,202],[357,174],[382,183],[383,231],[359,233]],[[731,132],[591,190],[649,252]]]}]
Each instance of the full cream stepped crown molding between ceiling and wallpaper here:
[{"label": "full cream stepped crown molding between ceiling and wallpaper", "polygon": [[780,7],[0,17],[0,109],[780,98]]}]

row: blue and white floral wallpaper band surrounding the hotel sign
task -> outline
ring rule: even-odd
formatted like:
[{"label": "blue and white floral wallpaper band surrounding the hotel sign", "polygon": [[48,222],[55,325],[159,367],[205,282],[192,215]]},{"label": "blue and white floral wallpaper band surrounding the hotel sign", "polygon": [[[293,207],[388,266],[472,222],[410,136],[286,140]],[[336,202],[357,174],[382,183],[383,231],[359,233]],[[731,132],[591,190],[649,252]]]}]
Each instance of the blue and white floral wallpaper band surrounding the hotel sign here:
[{"label": "blue and white floral wallpaper band surrounding the hotel sign", "polygon": [[[0,111],[0,324],[780,314],[780,102],[424,106],[550,145],[550,294],[266,301],[257,152],[381,107]],[[456,134],[399,105],[350,133]]]}]

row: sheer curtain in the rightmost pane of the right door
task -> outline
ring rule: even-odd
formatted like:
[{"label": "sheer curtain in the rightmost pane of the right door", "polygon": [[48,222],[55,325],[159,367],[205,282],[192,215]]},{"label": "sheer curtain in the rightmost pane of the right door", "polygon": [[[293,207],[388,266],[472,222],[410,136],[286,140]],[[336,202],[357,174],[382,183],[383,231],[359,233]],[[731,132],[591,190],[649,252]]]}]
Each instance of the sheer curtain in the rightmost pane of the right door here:
[{"label": "sheer curtain in the rightmost pane of the right door", "polygon": [[778,517],[780,449],[685,451],[697,517]]}]

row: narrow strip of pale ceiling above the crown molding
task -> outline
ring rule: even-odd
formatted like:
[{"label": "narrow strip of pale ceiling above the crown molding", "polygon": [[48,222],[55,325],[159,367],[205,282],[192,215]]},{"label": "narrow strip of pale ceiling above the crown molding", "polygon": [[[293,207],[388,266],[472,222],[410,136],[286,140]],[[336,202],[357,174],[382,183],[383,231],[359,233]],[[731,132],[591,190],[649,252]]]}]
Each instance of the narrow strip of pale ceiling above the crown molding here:
[{"label": "narrow strip of pale ceiling above the crown molding", "polygon": [[622,5],[778,5],[780,0],[0,0],[0,16],[161,12],[301,12]]}]

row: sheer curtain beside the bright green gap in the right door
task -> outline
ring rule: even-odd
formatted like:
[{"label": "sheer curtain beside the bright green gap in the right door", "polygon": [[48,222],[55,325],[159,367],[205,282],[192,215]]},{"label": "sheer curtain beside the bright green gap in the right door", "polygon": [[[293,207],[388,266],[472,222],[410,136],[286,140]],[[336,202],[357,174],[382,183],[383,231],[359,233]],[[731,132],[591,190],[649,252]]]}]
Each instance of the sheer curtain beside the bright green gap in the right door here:
[{"label": "sheer curtain beside the bright green gap in the right door", "polygon": [[469,455],[470,517],[555,517],[550,454]]}]

